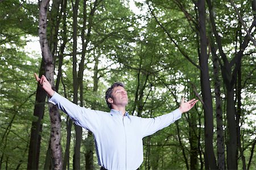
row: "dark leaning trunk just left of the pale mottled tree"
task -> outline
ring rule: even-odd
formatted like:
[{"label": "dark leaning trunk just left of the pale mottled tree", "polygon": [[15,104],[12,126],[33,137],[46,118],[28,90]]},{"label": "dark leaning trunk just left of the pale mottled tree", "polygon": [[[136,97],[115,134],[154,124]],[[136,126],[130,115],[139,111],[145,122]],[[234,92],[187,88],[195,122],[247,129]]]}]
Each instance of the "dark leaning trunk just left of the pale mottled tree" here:
[{"label": "dark leaning trunk just left of the pale mottled tree", "polygon": [[[42,58],[39,75],[40,77],[45,74],[45,66]],[[36,90],[36,101],[34,108],[34,116],[38,117],[38,120],[32,122],[31,135],[30,135],[30,147],[28,150],[28,162],[27,169],[38,169],[41,133],[42,133],[42,119],[44,116],[44,104],[46,101],[46,92],[38,85]]]}]

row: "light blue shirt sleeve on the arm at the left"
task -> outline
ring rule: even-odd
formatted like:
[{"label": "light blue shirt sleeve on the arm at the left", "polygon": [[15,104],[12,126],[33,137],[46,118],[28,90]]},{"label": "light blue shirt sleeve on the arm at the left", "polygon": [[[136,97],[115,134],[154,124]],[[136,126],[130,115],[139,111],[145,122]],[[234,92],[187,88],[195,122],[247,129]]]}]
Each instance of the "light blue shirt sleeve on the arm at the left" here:
[{"label": "light blue shirt sleeve on the arm at the left", "polygon": [[67,113],[76,125],[94,132],[100,125],[100,116],[97,111],[80,107],[72,103],[65,97],[59,95],[57,92],[48,100],[49,103],[57,105],[57,107]]}]

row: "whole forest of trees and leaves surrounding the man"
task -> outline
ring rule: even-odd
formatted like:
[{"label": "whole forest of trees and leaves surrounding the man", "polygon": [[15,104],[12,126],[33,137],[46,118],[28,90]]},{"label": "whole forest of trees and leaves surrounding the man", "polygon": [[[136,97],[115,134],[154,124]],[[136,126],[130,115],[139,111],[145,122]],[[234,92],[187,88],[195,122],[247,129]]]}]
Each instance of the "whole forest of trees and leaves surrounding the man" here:
[{"label": "whole forest of trees and leaves surrounding the man", "polygon": [[0,169],[100,169],[92,132],[48,103],[34,73],[81,107],[156,117],[139,169],[256,169],[256,0],[0,0]]}]

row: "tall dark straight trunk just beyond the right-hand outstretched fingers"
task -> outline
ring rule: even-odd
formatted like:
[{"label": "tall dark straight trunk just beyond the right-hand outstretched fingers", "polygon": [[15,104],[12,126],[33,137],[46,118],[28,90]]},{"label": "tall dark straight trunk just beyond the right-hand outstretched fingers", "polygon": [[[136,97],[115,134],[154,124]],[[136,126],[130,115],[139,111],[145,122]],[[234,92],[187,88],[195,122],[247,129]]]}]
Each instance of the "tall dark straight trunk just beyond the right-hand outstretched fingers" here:
[{"label": "tall dark straight trunk just beyond the right-hand outstretched fingers", "polygon": [[201,88],[204,101],[204,125],[205,125],[205,169],[217,169],[213,151],[213,107],[212,93],[210,92],[209,67],[207,55],[207,35],[205,29],[205,1],[197,2],[199,10]]}]

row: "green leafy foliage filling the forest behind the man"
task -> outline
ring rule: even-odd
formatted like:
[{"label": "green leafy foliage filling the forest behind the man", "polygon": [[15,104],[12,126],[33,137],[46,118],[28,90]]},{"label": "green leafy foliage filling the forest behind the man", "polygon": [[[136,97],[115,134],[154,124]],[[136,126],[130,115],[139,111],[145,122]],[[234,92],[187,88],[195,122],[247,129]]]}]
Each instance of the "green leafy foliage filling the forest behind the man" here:
[{"label": "green leafy foliage filling the forest behind the man", "polygon": [[[67,12],[49,12],[48,40],[54,44],[55,24],[60,19],[57,31],[55,56],[56,75],[60,62],[60,48],[65,36],[67,44],[64,49],[61,66],[62,82],[59,94],[73,100],[72,75],[72,1],[67,2]],[[247,27],[252,22],[250,1],[236,1]],[[82,57],[82,24],[86,16],[85,39],[88,45],[85,50],[85,70],[83,76],[84,107],[95,107],[109,111],[105,103],[105,91],[114,82],[126,84],[129,95],[127,111],[142,117],[155,117],[176,109],[181,96],[186,99],[201,96],[199,65],[199,32],[198,14],[191,1],[151,1],[148,2],[156,19],[147,11],[135,15],[130,11],[126,1],[101,1],[94,15],[90,12],[94,1],[86,1],[86,14],[83,13],[84,1],[80,1],[78,14],[77,65]],[[146,3],[137,2],[138,7],[147,7]],[[213,1],[217,29],[221,33],[224,52],[231,60],[242,43],[245,31],[233,7],[228,2]],[[60,10],[60,9],[59,9]],[[184,11],[188,15],[184,15]],[[64,32],[63,16],[65,15],[67,32]],[[189,18],[189,19],[188,19]],[[90,23],[90,25],[88,25]],[[34,73],[38,72],[39,59],[34,53],[25,52],[27,37],[37,36],[38,5],[23,1],[0,1],[0,157],[1,167],[8,169],[26,169],[29,147],[29,135],[35,103],[36,82]],[[90,34],[88,29],[91,26]],[[65,34],[64,34],[65,33]],[[207,9],[207,35],[212,37]],[[255,35],[253,35],[255,37]],[[51,45],[52,45],[51,44]],[[237,46],[236,46],[237,45]],[[52,46],[51,46],[52,47]],[[209,52],[209,57],[212,57]],[[184,54],[195,63],[189,62]],[[246,163],[251,156],[255,139],[255,47],[249,44],[242,58],[242,115],[241,142]],[[39,57],[40,58],[40,57]],[[98,59],[98,67],[95,68]],[[209,58],[212,94],[213,65]],[[78,67],[77,67],[78,69]],[[96,77],[94,76],[96,74]],[[225,115],[225,87],[221,80],[222,111]],[[94,91],[97,79],[97,91]],[[237,91],[236,87],[236,91]],[[197,95],[197,96],[196,96]],[[237,98],[236,98],[237,100]],[[213,99],[213,103],[215,100]],[[213,104],[214,107],[214,104]],[[42,122],[42,141],[39,169],[43,169],[49,141],[50,121],[46,107]],[[61,132],[63,154],[67,144],[67,116],[61,113]],[[216,120],[214,117],[214,131]],[[178,130],[179,128],[179,130]],[[226,122],[224,120],[224,128]],[[81,167],[85,166],[87,132],[83,133],[84,145],[81,146]],[[214,134],[213,146],[217,147]],[[197,146],[197,168],[203,167],[204,160],[204,117],[203,104],[183,114],[177,124],[143,139],[144,162],[142,169],[186,169],[190,165],[192,142]],[[75,133],[72,129],[70,168],[72,168]],[[239,152],[240,153],[240,152]],[[97,162],[94,152],[94,162]],[[255,153],[251,161],[255,167]],[[238,156],[238,167],[242,167]],[[7,167],[5,167],[7,165]]]}]

